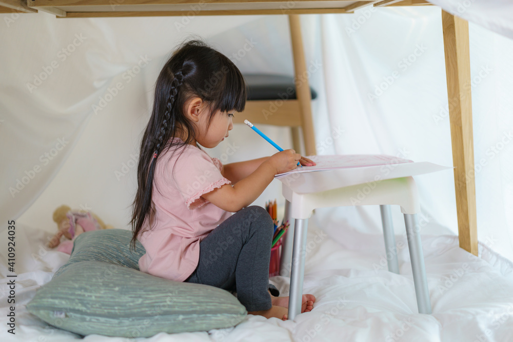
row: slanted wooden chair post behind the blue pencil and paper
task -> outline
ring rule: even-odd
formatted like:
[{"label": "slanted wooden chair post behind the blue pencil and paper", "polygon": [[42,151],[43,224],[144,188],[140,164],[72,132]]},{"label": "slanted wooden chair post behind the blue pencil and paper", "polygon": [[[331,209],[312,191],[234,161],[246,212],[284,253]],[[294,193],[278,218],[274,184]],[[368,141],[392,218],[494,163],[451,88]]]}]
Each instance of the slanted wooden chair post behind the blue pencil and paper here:
[{"label": "slanted wooden chair post behind the blue pencil and paper", "polygon": [[[303,49],[303,38],[301,37],[301,22],[299,14],[289,14],[290,37],[292,42],[292,55],[294,57],[294,82],[295,93],[301,108],[301,127],[305,141],[306,155],[315,155],[315,134],[313,130],[310,85],[308,83],[308,70],[306,69],[305,52]],[[297,132],[296,132],[297,133]],[[293,134],[297,144],[298,136]],[[299,152],[299,151],[297,151]]]}]

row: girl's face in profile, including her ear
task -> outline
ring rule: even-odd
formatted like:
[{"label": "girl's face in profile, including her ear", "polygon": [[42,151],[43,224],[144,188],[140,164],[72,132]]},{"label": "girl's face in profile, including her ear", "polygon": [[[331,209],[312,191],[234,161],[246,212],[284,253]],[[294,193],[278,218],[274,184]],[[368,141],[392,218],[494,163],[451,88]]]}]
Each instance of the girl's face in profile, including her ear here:
[{"label": "girl's face in profile, including her ear", "polygon": [[198,126],[199,136],[196,142],[205,148],[213,148],[219,145],[229,131],[233,129],[232,117],[234,111],[222,112],[218,110],[213,114],[210,126],[207,129],[209,110],[199,97],[192,99],[186,105],[187,116]]}]

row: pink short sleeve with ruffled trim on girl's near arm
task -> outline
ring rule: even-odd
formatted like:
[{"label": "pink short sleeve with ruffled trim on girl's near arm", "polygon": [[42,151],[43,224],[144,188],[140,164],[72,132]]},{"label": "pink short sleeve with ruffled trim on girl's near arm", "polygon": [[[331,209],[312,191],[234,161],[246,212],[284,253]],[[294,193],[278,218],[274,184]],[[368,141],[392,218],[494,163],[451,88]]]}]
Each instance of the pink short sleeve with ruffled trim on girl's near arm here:
[{"label": "pink short sleeve with ruffled trim on girl's near arm", "polygon": [[202,207],[208,200],[203,194],[231,182],[221,174],[222,164],[200,149],[191,149],[185,158],[178,159],[174,178],[189,210]]}]

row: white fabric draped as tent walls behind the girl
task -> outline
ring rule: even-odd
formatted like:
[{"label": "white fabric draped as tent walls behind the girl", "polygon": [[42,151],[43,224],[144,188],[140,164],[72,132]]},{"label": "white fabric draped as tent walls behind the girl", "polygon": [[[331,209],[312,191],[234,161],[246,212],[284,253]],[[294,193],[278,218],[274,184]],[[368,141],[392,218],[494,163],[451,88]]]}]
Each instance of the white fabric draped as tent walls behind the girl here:
[{"label": "white fabric draped as tent walls behind the girl", "polygon": [[[458,14],[455,0],[433,3]],[[476,168],[469,176],[476,178],[481,247],[494,255],[488,260],[495,266],[503,260],[497,267],[505,276],[510,272],[507,259],[513,260],[513,24],[509,19],[513,8],[505,0],[469,3],[460,13],[470,21],[467,86],[472,91]],[[37,253],[55,232],[52,213],[62,204],[92,210],[105,223],[130,229],[137,153],[151,112],[155,79],[173,48],[192,33],[229,56],[243,73],[293,75],[285,15],[56,19],[38,13],[3,14],[0,20],[0,252],[4,256],[8,220],[27,227],[23,234],[44,231],[28,237],[20,234],[21,242],[27,243],[21,248]],[[302,15],[301,22],[310,84],[319,94],[312,102],[318,154],[383,153],[452,166],[451,102],[439,7],[366,7],[350,15]],[[259,128],[278,145],[291,148],[287,129]],[[236,125],[229,138],[209,150],[223,163],[275,152],[245,125]],[[458,234],[452,171],[415,179],[421,197],[421,234],[445,235],[451,246],[457,246],[451,240]],[[283,205],[278,180],[254,204],[264,206],[274,198]],[[396,234],[403,234],[399,208],[393,208],[392,214]],[[330,236],[330,244],[352,246],[363,254],[366,239],[374,242],[382,233],[377,206],[321,209],[311,223]],[[31,240],[34,236],[40,243]],[[437,246],[430,245],[432,255]],[[452,260],[463,263],[465,257]],[[47,276],[38,278],[37,285],[46,283],[58,268],[52,258],[53,263],[46,261]],[[326,269],[335,269],[341,261],[326,260],[332,263]],[[3,260],[2,274],[7,272],[5,265]],[[426,265],[429,273],[428,261]],[[352,274],[353,266],[340,274]],[[408,267],[405,264],[401,270]],[[446,267],[450,270],[450,265]],[[27,272],[30,279],[36,269],[45,267],[32,258],[20,260],[17,272]],[[307,269],[307,276],[308,272],[313,270]],[[310,274],[305,287],[324,291],[322,285],[332,274],[323,273],[321,283]],[[504,281],[510,284],[511,279]],[[415,309],[414,302],[408,305]],[[354,310],[355,315],[361,313]],[[466,340],[478,334],[476,330]],[[348,340],[359,340],[357,335],[348,335],[353,338]],[[369,340],[377,336],[384,339],[387,334]]]}]

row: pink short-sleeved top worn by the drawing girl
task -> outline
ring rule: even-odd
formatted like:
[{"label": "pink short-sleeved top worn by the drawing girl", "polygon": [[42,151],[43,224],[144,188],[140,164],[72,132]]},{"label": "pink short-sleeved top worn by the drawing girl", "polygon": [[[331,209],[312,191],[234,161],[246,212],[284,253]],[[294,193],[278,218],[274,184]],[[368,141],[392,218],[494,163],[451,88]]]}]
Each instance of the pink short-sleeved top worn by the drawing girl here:
[{"label": "pink short-sleeved top worn by the drawing girl", "polygon": [[148,230],[145,222],[138,237],[146,249],[139,269],[184,281],[198,265],[200,241],[232,214],[201,195],[231,183],[221,174],[219,159],[192,145],[171,156],[174,149],[172,146],[156,161],[151,203],[155,216],[153,228]]}]

